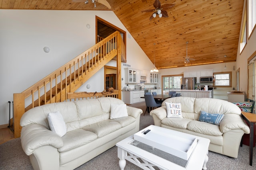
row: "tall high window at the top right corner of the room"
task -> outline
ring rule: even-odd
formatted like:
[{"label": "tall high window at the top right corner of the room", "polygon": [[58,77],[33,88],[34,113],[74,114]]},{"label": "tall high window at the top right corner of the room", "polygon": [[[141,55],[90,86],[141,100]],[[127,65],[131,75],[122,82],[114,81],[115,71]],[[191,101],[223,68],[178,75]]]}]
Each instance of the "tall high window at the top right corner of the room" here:
[{"label": "tall high window at the top right corner of the room", "polygon": [[248,36],[250,37],[256,25],[256,1],[248,0]]}]

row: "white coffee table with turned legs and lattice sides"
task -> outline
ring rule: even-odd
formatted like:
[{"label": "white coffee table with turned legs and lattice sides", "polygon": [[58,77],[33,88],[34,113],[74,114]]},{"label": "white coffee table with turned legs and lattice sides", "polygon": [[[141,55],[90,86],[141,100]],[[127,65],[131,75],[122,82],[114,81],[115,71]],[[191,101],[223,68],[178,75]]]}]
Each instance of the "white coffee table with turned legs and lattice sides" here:
[{"label": "white coffee table with turned legs and lattice sides", "polygon": [[[142,129],[138,133],[143,133],[143,131],[147,129],[152,129],[152,133],[158,131],[158,134],[154,134],[156,137],[153,140],[153,143],[158,139],[159,142],[163,145],[168,145],[166,142],[161,142],[163,139],[163,134],[166,135],[168,139],[170,139],[169,143],[172,145],[172,141],[177,138],[190,139],[194,137],[197,139],[196,147],[194,147],[192,154],[186,159],[179,158],[178,156],[174,156],[167,152],[164,152],[160,149],[156,149],[155,147],[146,145],[142,142],[138,142],[134,140],[134,135],[118,142],[116,146],[118,147],[118,158],[119,166],[121,170],[124,170],[126,165],[126,160],[136,164],[140,168],[144,170],[154,170],[154,167],[158,167],[160,170],[206,170],[206,163],[208,162],[208,147],[210,144],[210,140],[194,135],[189,135],[186,133],[173,131],[170,129],[166,129],[163,127],[158,127],[154,125],[150,125],[145,129]],[[150,133],[150,132],[149,132]],[[148,134],[149,134],[148,133]],[[170,135],[171,134],[171,135]],[[146,134],[147,135],[147,134]],[[169,137],[168,137],[169,136]],[[171,137],[170,137],[171,136]],[[156,140],[155,140],[156,139]],[[167,140],[168,140],[167,139]],[[174,142],[173,142],[174,143]],[[154,145],[156,145],[154,143]],[[168,145],[167,147],[170,147]],[[175,148],[175,147],[174,147]],[[170,150],[168,150],[170,152]],[[176,153],[174,153],[177,155]]]}]

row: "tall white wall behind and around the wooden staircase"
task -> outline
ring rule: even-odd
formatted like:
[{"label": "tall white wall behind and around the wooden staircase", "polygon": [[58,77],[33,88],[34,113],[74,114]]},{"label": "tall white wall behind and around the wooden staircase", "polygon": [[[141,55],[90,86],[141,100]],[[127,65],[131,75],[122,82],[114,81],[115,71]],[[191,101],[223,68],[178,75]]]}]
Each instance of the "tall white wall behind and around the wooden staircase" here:
[{"label": "tall white wall behind and around the wooden staircase", "polygon": [[[8,101],[13,101],[14,93],[23,92],[95,44],[96,15],[130,35],[112,11],[0,10],[0,125],[9,123]],[[150,70],[154,64],[133,37],[126,39],[127,64]],[[44,53],[45,46],[50,53]],[[112,61],[108,65],[116,66]],[[104,68],[78,91],[103,89]]]}]

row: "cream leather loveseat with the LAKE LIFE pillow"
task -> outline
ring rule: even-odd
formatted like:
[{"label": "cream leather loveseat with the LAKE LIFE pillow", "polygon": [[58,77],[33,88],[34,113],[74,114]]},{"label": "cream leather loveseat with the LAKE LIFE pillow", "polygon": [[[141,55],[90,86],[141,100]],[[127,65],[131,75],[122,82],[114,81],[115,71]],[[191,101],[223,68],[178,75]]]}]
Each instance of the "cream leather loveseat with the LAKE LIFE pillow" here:
[{"label": "cream leather loveseat with the LAKE LIFE pillow", "polygon": [[[167,103],[166,103],[167,102]],[[180,103],[181,116],[167,117],[166,104]],[[209,116],[201,116],[201,111]],[[178,112],[177,112],[178,113]],[[219,125],[207,123],[210,115],[223,116]],[[154,125],[210,139],[209,150],[230,157],[238,157],[240,141],[249,127],[241,117],[241,110],[235,104],[213,98],[176,97],[164,100],[161,107],[150,112]],[[200,119],[200,121],[199,121]],[[203,120],[206,120],[204,122]]]}]

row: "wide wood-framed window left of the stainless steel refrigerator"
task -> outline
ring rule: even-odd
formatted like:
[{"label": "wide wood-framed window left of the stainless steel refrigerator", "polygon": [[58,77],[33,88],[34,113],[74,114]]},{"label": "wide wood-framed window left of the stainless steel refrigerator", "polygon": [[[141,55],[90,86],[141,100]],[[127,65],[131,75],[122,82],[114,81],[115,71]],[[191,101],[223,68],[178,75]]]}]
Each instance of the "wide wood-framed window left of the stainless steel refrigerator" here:
[{"label": "wide wood-framed window left of the stainless steel refrigerator", "polygon": [[173,90],[180,89],[180,78],[182,76],[163,76],[163,89],[164,90]]}]

